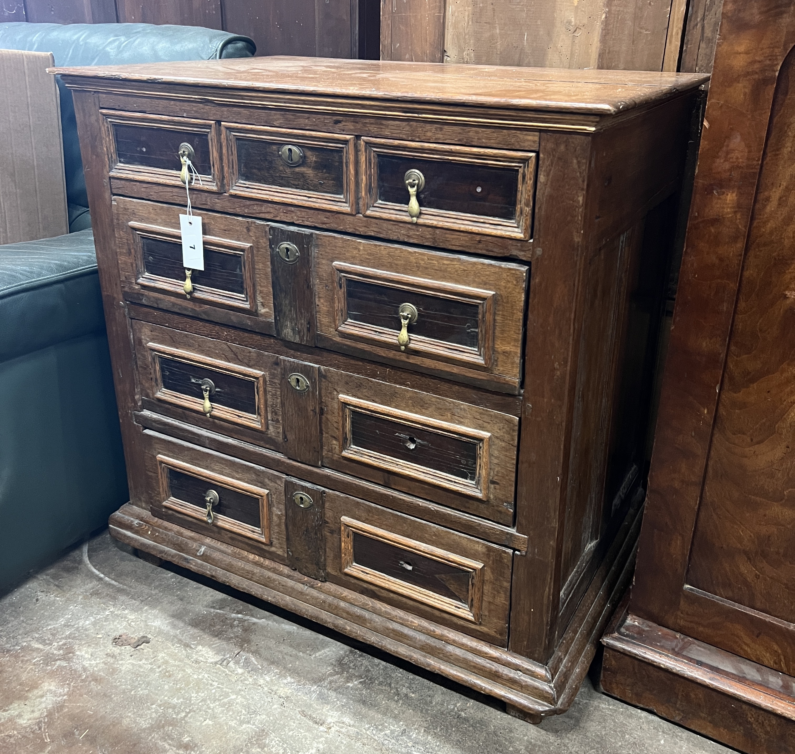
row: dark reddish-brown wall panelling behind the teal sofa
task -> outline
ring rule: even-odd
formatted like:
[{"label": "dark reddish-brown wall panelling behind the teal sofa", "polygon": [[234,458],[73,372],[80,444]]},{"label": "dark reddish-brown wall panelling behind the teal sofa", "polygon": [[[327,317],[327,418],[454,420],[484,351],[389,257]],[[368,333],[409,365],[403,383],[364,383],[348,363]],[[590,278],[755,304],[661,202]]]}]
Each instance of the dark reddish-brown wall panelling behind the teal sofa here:
[{"label": "dark reddish-brown wall panelling behind the teal sofa", "polygon": [[206,26],[245,34],[258,55],[378,60],[379,0],[4,0],[0,21]]}]

